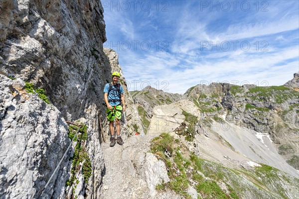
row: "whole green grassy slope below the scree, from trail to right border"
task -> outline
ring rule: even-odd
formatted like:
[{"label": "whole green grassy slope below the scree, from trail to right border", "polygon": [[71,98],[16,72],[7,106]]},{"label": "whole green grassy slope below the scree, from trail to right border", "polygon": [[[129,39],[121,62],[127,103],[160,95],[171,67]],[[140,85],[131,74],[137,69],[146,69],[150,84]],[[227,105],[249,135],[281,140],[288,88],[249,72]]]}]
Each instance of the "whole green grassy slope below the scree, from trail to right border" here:
[{"label": "whole green grassy slope below the scree, from trail to right border", "polygon": [[[168,133],[152,139],[150,151],[165,163],[170,179],[156,189],[173,190],[186,199],[191,197],[188,185],[193,185],[197,193],[207,199],[239,199],[248,193],[254,198],[287,199],[289,190],[283,184],[299,188],[299,179],[268,165],[226,168],[221,163],[201,159]],[[170,152],[170,157],[165,156],[165,151]]]}]

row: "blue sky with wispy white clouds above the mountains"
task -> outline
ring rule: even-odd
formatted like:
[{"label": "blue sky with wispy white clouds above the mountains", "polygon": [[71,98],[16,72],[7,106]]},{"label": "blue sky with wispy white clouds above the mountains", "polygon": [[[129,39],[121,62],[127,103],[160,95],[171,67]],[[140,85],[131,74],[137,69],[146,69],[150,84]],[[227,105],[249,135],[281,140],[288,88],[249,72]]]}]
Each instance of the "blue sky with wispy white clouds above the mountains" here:
[{"label": "blue sky with wispy white clouds above the mountains", "polygon": [[102,0],[130,91],[279,86],[299,71],[298,0]]}]

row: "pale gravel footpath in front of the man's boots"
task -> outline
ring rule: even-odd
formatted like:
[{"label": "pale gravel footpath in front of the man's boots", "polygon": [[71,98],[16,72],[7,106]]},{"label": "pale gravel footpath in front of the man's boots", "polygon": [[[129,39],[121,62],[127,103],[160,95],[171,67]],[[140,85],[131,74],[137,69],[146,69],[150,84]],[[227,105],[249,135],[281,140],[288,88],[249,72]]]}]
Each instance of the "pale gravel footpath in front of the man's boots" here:
[{"label": "pale gravel footpath in front of the man's boots", "polygon": [[[118,143],[114,147],[110,147],[109,143],[102,144],[105,170],[101,199],[149,198],[147,184],[134,168],[137,158],[134,153],[145,145],[146,140],[146,137],[133,135],[124,140],[122,146]],[[139,151],[139,154],[142,153]]]}]

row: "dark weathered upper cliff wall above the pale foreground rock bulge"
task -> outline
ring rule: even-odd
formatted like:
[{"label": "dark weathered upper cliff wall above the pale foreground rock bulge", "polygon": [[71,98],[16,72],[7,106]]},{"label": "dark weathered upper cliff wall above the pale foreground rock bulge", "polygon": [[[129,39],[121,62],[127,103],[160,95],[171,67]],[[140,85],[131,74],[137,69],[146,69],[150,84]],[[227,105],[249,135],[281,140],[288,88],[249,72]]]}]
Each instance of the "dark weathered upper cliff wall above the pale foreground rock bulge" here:
[{"label": "dark weathered upper cliff wall above the pale foreground rock bulge", "polygon": [[99,0],[0,2],[0,71],[44,88],[67,119],[102,100],[110,67]]}]

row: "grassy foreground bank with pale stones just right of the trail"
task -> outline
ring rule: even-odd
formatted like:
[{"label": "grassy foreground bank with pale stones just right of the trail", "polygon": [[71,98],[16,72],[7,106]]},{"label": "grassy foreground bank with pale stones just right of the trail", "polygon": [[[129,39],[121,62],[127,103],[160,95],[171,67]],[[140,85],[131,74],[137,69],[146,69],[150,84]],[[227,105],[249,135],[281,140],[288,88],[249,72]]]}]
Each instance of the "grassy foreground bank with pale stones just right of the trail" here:
[{"label": "grassy foreground bank with pale stones just right of the trail", "polygon": [[[165,162],[168,170],[168,176],[170,181],[166,184],[157,185],[157,190],[170,189],[180,196],[191,199],[188,194],[188,185],[191,181],[196,183],[195,189],[197,193],[200,193],[204,198],[221,198],[221,199],[238,199],[237,193],[229,186],[229,194],[225,193],[217,184],[219,177],[209,172],[204,171],[208,166],[205,165],[205,160],[199,159],[195,155],[184,154],[190,153],[187,151],[180,151],[178,143],[174,142],[174,139],[168,133],[162,133],[160,136],[152,139],[151,152],[158,156],[159,159]],[[164,155],[165,151],[169,151],[171,158],[167,159]],[[207,176],[214,176],[215,179],[206,180],[201,174],[206,173]],[[218,172],[218,176],[222,176],[221,172]],[[222,177],[221,177],[222,178]]]}]

